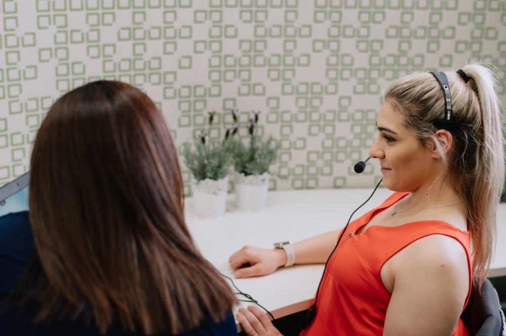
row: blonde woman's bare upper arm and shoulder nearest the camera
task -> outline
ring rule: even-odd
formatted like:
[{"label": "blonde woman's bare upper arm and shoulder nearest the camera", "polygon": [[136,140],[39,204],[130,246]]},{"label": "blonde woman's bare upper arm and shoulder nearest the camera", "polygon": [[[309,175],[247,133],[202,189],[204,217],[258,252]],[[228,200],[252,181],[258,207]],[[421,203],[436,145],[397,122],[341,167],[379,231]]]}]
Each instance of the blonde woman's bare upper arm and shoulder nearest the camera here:
[{"label": "blonde woman's bare upper arm and shoulder nearest the camera", "polygon": [[465,250],[453,238],[430,235],[401,253],[383,334],[450,335],[469,291]]}]

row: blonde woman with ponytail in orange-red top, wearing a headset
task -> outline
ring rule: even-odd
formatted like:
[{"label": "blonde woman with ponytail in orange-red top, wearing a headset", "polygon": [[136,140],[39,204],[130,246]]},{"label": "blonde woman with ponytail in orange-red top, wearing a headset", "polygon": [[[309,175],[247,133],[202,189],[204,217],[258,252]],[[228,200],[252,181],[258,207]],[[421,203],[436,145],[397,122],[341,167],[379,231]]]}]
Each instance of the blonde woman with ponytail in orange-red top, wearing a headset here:
[{"label": "blonde woman with ponytail in orange-red top, wearing a headset", "polygon": [[[369,155],[394,193],[345,232],[245,246],[230,265],[244,278],[327,261],[301,335],[467,335],[459,317],[486,278],[504,181],[494,72],[415,72],[383,98]],[[256,307],[236,318],[248,335],[280,334]]]}]

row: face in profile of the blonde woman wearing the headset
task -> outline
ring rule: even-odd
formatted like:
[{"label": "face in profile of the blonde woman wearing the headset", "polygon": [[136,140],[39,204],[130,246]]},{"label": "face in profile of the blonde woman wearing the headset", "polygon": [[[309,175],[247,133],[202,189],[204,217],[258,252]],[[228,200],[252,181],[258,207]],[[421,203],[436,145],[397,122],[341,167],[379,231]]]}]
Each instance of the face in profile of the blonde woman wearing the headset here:
[{"label": "face in profile of the blonde woman wearing the headset", "polygon": [[420,145],[403,123],[403,116],[386,101],[376,119],[378,134],[369,149],[379,159],[383,184],[393,191],[413,191],[435,179],[438,167],[432,152]]}]

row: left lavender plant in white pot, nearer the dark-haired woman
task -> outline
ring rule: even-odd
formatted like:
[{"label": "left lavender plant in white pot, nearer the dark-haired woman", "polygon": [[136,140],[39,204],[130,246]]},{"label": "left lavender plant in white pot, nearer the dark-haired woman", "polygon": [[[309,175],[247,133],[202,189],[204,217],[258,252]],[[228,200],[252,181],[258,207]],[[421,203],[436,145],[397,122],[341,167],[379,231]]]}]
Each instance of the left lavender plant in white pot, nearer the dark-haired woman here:
[{"label": "left lavender plant in white pot, nearer the dark-haired woman", "polygon": [[[215,113],[208,112],[209,129]],[[183,157],[194,181],[192,183],[195,213],[202,218],[218,217],[225,213],[228,190],[228,173],[232,165],[231,155],[226,145],[231,133],[227,129],[223,141],[213,141],[208,132],[201,131],[194,139],[194,149],[186,144]]]}]

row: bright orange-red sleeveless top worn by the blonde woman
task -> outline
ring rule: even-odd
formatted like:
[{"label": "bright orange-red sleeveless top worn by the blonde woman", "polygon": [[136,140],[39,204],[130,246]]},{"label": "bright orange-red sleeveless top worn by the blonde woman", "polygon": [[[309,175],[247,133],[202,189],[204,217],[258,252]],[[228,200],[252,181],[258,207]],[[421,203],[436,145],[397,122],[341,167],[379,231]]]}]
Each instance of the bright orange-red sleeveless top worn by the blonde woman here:
[{"label": "bright orange-red sleeveless top worn by the blonde woman", "polygon": [[[315,318],[301,335],[382,335],[391,293],[383,284],[381,268],[398,251],[431,234],[452,237],[466,250],[469,291],[462,311],[466,308],[472,279],[468,231],[461,231],[442,221],[419,221],[396,227],[371,226],[365,232],[349,236],[350,232],[366,225],[376,213],[408,194],[394,193],[348,225],[323,275]],[[461,335],[467,336],[469,331],[459,319],[452,336]]]}]

